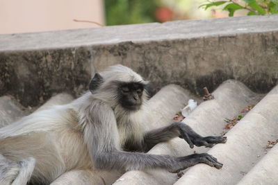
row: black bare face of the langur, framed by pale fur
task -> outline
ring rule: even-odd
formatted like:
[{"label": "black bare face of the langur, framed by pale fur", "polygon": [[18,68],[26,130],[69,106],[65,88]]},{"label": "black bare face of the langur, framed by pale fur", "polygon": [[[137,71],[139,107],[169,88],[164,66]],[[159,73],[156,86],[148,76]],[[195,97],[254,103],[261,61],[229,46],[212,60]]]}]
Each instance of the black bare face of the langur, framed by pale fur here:
[{"label": "black bare face of the langur, framed by pale fur", "polygon": [[125,109],[140,109],[143,91],[144,85],[140,82],[121,83],[119,86],[120,104]]}]

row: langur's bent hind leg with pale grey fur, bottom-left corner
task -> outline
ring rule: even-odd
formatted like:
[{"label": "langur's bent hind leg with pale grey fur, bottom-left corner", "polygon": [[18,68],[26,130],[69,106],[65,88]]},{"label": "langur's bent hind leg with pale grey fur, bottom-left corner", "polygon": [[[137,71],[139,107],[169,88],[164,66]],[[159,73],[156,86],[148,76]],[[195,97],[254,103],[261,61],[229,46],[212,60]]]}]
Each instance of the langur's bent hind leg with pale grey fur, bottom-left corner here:
[{"label": "langur's bent hind leg with pale grey fur, bottom-left corner", "polygon": [[10,161],[0,155],[0,184],[27,184],[35,168],[35,159],[29,157],[19,162]]}]

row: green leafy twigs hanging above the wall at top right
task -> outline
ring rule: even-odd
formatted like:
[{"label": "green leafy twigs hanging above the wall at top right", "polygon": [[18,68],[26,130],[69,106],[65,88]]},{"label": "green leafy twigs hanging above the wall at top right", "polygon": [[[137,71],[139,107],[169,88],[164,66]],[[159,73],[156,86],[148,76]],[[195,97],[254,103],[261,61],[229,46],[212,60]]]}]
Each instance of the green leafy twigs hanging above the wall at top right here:
[{"label": "green leafy twigs hanging above the wall at top right", "polygon": [[208,0],[199,7],[206,10],[214,6],[222,6],[222,10],[229,12],[229,17],[234,16],[236,10],[247,10],[247,15],[270,15],[278,13],[278,0]]}]

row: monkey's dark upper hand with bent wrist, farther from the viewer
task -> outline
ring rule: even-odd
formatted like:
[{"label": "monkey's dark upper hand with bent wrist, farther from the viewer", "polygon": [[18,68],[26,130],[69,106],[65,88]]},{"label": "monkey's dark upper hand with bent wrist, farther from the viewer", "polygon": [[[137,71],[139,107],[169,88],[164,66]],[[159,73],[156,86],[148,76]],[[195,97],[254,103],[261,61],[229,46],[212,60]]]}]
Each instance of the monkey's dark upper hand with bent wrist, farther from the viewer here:
[{"label": "monkey's dark upper hand with bent wrist, farther from the viewer", "polygon": [[223,136],[200,136],[191,127],[186,125],[186,123],[174,123],[177,125],[180,135],[179,137],[186,140],[190,148],[195,146],[206,146],[213,147],[216,143],[226,143],[227,137]]}]

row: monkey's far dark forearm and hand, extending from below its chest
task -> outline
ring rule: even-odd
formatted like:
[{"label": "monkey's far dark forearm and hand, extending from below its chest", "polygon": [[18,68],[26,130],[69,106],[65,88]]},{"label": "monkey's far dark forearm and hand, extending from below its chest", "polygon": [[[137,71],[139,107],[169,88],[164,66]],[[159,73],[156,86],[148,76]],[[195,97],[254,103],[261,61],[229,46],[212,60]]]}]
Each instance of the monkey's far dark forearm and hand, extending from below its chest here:
[{"label": "monkey's far dark forearm and hand, extending from below its chest", "polygon": [[176,136],[186,140],[190,148],[193,148],[194,145],[212,147],[215,143],[225,143],[227,141],[227,138],[222,136],[200,136],[186,123],[176,122],[147,132],[144,136],[144,150],[149,151],[157,143],[169,141]]}]

